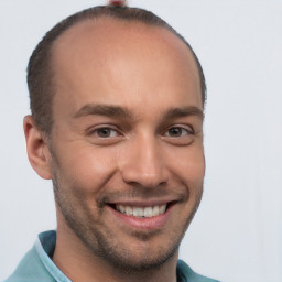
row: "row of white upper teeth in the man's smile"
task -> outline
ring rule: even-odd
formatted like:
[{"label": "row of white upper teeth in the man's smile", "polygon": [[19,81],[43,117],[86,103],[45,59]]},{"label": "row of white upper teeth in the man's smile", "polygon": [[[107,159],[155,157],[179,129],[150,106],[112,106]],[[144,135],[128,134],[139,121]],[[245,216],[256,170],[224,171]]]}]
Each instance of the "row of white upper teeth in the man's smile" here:
[{"label": "row of white upper teeth in the man's smile", "polygon": [[162,215],[166,209],[166,204],[161,206],[152,206],[152,207],[132,207],[132,206],[122,206],[117,205],[117,210],[128,216],[135,217],[152,217]]}]

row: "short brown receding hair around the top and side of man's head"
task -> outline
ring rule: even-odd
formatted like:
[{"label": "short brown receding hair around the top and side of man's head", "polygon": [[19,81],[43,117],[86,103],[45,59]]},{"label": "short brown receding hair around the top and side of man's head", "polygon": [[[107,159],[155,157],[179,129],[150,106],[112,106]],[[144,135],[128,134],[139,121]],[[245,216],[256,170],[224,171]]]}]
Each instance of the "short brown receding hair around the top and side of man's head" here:
[{"label": "short brown receding hair around the top and side of man's head", "polygon": [[83,10],[57,23],[50,30],[42,41],[37,44],[30,57],[28,65],[28,86],[30,91],[30,107],[34,121],[40,130],[51,133],[53,124],[52,102],[55,95],[53,73],[51,67],[52,46],[56,39],[70,26],[84,20],[109,17],[123,21],[142,22],[153,26],[160,26],[169,30],[181,39],[192,52],[200,79],[203,106],[206,101],[206,83],[200,63],[186,40],[180,35],[171,25],[154,13],[129,7],[99,6]]}]

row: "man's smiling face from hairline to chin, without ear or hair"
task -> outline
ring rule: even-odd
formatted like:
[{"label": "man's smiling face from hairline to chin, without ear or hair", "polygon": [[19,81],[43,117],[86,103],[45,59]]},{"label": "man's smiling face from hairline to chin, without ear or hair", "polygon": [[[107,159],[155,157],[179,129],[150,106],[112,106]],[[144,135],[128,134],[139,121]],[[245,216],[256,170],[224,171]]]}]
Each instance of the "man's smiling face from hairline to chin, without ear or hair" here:
[{"label": "man's smiling face from hairline to chin, without ear or hair", "polygon": [[72,28],[53,50],[51,140],[58,232],[148,269],[177,256],[205,161],[196,65],[170,32],[117,20]]}]

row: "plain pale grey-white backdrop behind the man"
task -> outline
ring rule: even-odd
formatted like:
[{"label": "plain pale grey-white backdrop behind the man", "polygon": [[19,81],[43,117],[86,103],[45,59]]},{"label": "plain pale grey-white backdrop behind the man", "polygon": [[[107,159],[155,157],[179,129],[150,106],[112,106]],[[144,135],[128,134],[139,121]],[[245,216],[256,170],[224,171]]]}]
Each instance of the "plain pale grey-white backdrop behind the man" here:
[{"label": "plain pale grey-white backdrop behind the man", "polygon": [[[0,280],[39,232],[56,228],[51,182],[31,169],[22,130],[25,68],[44,33],[105,1],[0,0]],[[208,87],[202,206],[181,247],[226,282],[282,281],[282,1],[135,0],[192,44]]]}]

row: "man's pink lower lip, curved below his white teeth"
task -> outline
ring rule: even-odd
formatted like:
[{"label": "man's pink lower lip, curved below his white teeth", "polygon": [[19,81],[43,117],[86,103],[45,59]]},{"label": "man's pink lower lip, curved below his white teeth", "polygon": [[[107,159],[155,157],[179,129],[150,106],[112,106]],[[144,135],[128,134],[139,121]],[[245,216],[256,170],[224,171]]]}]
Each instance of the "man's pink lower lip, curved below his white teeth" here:
[{"label": "man's pink lower lip, curved below his white teeth", "polygon": [[165,210],[165,213],[159,216],[139,218],[139,217],[121,214],[117,212],[115,208],[108,206],[108,209],[111,212],[115,219],[117,219],[119,223],[134,229],[143,229],[143,230],[156,230],[164,227],[170,218],[172,208],[173,208],[172,206],[169,207]]}]

